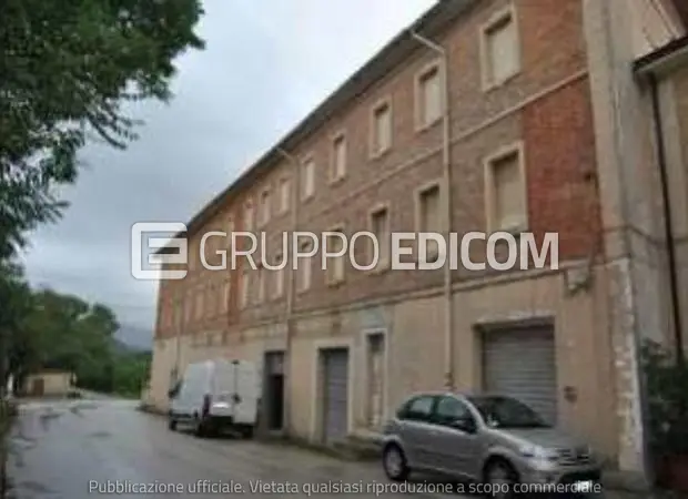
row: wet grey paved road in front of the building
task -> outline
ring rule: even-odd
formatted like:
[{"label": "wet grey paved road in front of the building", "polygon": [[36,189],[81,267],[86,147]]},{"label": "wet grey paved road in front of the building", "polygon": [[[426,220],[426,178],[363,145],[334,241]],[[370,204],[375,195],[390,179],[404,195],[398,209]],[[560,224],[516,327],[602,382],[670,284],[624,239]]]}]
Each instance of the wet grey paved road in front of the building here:
[{"label": "wet grey paved road in front of the building", "polygon": [[[287,446],[171,432],[163,418],[119,400],[22,405],[11,437],[8,472],[13,482],[11,497],[17,499],[324,498],[343,492],[335,487],[356,487],[361,489],[353,490],[356,496],[370,498],[459,497],[384,490],[392,485],[375,464],[343,462]],[[107,493],[108,485],[117,483],[128,486],[129,493]],[[148,493],[133,489],[134,485],[146,486]],[[423,486],[423,481],[413,485]],[[154,493],[164,492],[163,487],[168,493]],[[375,487],[381,493],[375,493]]]}]

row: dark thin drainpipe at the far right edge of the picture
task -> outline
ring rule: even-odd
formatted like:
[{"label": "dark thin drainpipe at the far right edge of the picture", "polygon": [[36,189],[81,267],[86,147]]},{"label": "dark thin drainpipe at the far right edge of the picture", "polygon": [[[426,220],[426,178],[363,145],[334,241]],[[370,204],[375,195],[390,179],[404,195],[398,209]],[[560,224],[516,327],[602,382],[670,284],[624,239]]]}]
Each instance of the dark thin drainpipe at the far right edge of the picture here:
[{"label": "dark thin drainpipe at the far right edge of the picture", "polygon": [[674,235],[674,220],[671,201],[669,198],[669,174],[667,172],[667,152],[664,142],[664,126],[661,124],[661,108],[659,103],[659,86],[657,77],[649,74],[650,93],[652,98],[652,119],[655,141],[657,142],[657,163],[659,165],[659,183],[661,184],[661,200],[664,214],[664,230],[667,240],[667,258],[669,263],[669,293],[671,295],[671,312],[674,317],[674,342],[676,343],[676,364],[682,366],[686,361],[684,353],[684,330],[681,324],[680,299],[678,291],[678,266],[676,264],[676,237]]}]

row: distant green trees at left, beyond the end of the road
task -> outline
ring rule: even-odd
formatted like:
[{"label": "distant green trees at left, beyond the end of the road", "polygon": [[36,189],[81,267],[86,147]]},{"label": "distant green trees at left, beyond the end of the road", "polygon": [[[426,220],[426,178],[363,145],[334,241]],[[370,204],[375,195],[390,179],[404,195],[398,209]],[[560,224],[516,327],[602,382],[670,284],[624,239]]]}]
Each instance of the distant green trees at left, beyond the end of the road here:
[{"label": "distant green trees at left, beyond the end of the road", "polygon": [[78,385],[93,391],[140,394],[150,354],[117,347],[119,325],[111,309],[50,289],[32,292],[20,274],[7,289],[16,306],[4,328],[9,366],[3,371],[19,386],[28,374],[54,368],[75,374]]}]

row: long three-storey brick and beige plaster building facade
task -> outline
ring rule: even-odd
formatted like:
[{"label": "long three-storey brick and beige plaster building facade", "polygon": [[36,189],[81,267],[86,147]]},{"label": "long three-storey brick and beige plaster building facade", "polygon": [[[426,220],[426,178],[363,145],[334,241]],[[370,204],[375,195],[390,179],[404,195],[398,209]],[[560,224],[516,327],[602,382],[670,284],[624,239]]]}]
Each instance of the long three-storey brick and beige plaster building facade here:
[{"label": "long three-storey brick and beige plaster building facade", "polygon": [[[375,434],[413,391],[504,390],[644,471],[637,353],[644,336],[670,342],[672,314],[651,100],[633,63],[681,39],[681,14],[652,0],[438,2],[191,221],[188,276],[160,284],[152,404],[166,408],[190,361],[252,359],[267,427],[328,442]],[[688,114],[672,115],[685,133]],[[203,268],[210,231],[265,233],[265,262]],[[559,268],[392,271],[386,244],[367,272],[266,268],[294,231],[556,232]],[[227,244],[208,240],[210,263]]]}]

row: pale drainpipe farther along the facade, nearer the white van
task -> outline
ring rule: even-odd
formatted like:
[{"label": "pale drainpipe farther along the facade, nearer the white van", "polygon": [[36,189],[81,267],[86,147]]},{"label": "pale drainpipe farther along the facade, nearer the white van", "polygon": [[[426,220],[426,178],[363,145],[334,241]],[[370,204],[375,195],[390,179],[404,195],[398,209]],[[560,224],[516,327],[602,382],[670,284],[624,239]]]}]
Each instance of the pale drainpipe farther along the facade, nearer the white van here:
[{"label": "pale drainpipe farther along the facade, nearer the white van", "polygon": [[[292,164],[294,169],[293,175],[293,184],[292,184],[292,236],[294,232],[296,232],[296,227],[299,225],[299,202],[301,198],[301,162],[294,157],[294,155],[287,153],[282,147],[277,147],[277,152]],[[287,381],[284,389],[284,422],[283,428],[286,432],[290,430],[291,422],[291,394],[290,394],[290,385],[291,385],[291,366],[292,366],[292,330],[294,328],[293,313],[294,313],[294,294],[296,287],[296,278],[295,271],[293,265],[293,241],[290,241],[286,248],[286,262],[287,262],[287,284],[286,284],[286,304],[285,304],[285,315],[286,315],[286,347],[285,347],[285,373],[284,378]]]}]

